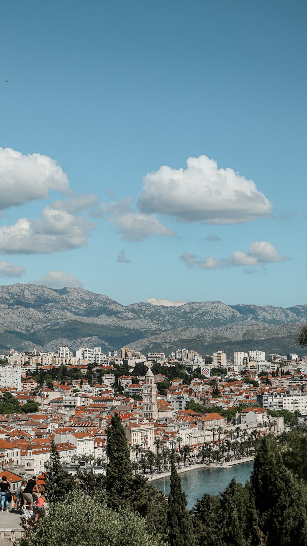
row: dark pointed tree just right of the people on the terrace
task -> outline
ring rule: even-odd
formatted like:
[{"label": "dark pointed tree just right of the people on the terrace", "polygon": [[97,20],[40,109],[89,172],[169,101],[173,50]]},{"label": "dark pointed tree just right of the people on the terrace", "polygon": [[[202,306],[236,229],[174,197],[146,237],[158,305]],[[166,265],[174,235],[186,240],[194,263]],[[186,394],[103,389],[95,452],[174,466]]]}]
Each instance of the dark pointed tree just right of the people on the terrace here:
[{"label": "dark pointed tree just right of the people on the terrace", "polygon": [[56,450],[55,443],[51,440],[51,455],[45,464],[47,468],[47,500],[58,501],[67,495],[68,491],[77,487],[74,477],[63,469],[60,463],[60,455]]}]

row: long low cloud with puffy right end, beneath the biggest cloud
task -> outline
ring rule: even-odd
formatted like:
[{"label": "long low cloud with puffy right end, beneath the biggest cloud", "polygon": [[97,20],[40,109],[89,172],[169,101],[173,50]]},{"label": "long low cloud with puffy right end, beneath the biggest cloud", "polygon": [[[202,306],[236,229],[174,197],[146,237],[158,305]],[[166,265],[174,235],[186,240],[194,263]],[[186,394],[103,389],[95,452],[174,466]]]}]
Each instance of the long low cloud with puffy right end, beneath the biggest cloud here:
[{"label": "long low cloud with puffy right end, beneath the biggest cloud", "polygon": [[189,254],[188,252],[183,252],[180,259],[190,269],[194,266],[200,269],[217,269],[238,266],[250,266],[250,268],[253,268],[253,266],[268,263],[285,262],[289,258],[280,256],[275,246],[269,241],[254,241],[251,242],[248,252],[236,250],[228,258],[222,258],[221,260],[217,260],[213,256],[201,259],[196,254]]}]

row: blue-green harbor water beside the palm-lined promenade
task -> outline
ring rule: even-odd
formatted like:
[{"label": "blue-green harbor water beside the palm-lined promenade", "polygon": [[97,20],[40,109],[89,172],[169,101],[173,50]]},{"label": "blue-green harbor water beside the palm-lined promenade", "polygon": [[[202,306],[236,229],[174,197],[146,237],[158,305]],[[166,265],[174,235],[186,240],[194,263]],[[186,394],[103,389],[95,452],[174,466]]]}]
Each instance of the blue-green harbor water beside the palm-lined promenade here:
[{"label": "blue-green harbor water beside the palm-lined promenade", "polygon": [[[249,461],[234,465],[232,468],[195,468],[193,471],[179,474],[182,489],[186,491],[187,508],[192,508],[204,493],[218,495],[233,478],[244,484],[247,479],[250,479],[252,470],[253,461]],[[163,490],[163,476],[156,484],[159,489]],[[170,478],[167,477],[165,478],[165,494],[168,495],[169,492]]]}]

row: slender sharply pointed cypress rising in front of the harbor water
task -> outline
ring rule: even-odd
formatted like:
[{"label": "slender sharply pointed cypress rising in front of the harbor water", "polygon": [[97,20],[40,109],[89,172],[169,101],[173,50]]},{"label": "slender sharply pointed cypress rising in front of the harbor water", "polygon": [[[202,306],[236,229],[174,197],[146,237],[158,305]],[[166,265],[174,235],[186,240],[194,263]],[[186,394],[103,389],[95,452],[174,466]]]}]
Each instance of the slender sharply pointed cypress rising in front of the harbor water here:
[{"label": "slender sharply pointed cypress rising in front of the harbor water", "polygon": [[182,491],[181,479],[172,460],[171,492],[167,505],[167,527],[170,546],[195,546],[192,515],[186,506],[186,494]]}]

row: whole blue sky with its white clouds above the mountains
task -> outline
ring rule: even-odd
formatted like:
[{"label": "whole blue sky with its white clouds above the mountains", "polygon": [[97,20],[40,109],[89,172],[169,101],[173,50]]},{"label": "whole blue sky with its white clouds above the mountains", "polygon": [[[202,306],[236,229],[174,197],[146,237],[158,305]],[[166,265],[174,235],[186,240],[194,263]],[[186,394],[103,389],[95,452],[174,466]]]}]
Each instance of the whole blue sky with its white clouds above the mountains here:
[{"label": "whole blue sky with its white clouds above the mountains", "polygon": [[[295,0],[3,4],[0,145],[25,157],[0,156],[0,282],[306,303],[306,15]],[[187,169],[199,156],[216,163]]]}]

